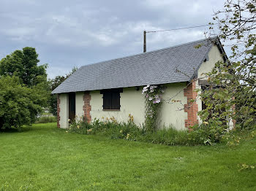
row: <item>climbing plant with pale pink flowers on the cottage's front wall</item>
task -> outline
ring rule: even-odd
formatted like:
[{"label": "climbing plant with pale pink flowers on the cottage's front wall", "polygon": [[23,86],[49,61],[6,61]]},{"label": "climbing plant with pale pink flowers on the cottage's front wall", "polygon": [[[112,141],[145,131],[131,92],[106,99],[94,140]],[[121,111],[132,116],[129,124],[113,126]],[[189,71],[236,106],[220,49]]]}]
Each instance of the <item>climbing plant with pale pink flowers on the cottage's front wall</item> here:
[{"label": "climbing plant with pale pink flowers on the cottage's front wall", "polygon": [[143,87],[142,94],[145,95],[145,126],[147,131],[157,130],[159,121],[159,108],[162,104],[162,94],[165,87],[162,85],[147,85]]}]

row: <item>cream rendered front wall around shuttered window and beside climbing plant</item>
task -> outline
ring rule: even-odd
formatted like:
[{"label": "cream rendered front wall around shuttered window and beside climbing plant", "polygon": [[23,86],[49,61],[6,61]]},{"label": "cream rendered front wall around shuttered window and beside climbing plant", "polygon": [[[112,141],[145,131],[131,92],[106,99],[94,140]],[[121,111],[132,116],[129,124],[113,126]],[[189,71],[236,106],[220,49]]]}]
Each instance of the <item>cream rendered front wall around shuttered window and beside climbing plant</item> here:
[{"label": "cream rendered front wall around shuttered window and beside climbing plant", "polygon": [[[185,119],[187,119],[187,113],[182,109],[182,104],[187,104],[187,98],[184,96],[183,88],[186,86],[186,83],[175,83],[167,85],[167,89],[163,95],[163,98],[167,100],[173,95],[176,95],[178,91],[181,90],[181,93],[178,93],[176,100],[181,102],[167,103],[164,101],[162,103],[162,109],[160,109],[160,121],[159,126],[169,128],[170,125],[173,125],[174,128],[183,130]],[[142,88],[140,90],[135,90],[135,87],[127,87],[123,89],[123,93],[120,93],[120,111],[103,111],[103,99],[102,94],[99,91],[91,91],[91,119],[94,118],[102,119],[102,117],[110,118],[115,117],[118,122],[127,122],[129,114],[132,114],[134,117],[134,122],[137,125],[143,125],[145,120],[145,98],[142,95]],[[182,104],[181,104],[182,103]],[[179,110],[178,110],[179,109]]]}]

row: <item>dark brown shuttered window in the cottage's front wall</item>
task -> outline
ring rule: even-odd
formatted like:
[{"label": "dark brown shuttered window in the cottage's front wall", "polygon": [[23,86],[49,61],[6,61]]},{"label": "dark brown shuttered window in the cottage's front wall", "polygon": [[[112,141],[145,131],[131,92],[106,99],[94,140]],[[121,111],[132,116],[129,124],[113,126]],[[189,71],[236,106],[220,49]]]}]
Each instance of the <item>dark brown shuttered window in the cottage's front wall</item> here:
[{"label": "dark brown shuttered window in the cottage's front wall", "polygon": [[101,90],[103,94],[103,110],[120,110],[120,93],[122,89]]}]

